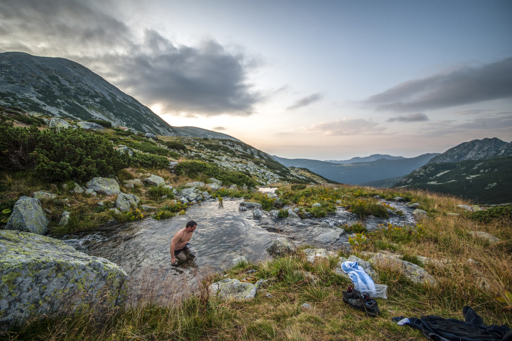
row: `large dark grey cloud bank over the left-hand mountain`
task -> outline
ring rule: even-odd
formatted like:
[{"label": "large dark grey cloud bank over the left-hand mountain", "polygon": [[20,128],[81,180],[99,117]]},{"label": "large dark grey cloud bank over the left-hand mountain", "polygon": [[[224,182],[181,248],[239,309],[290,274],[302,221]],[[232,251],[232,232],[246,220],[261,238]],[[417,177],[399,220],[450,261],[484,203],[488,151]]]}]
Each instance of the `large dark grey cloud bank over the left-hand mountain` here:
[{"label": "large dark grey cloud bank over the left-hand mountain", "polygon": [[213,39],[197,46],[154,30],[141,36],[107,14],[113,3],[3,0],[0,51],[60,56],[81,63],[163,113],[250,115],[263,95],[248,84],[258,61]]}]

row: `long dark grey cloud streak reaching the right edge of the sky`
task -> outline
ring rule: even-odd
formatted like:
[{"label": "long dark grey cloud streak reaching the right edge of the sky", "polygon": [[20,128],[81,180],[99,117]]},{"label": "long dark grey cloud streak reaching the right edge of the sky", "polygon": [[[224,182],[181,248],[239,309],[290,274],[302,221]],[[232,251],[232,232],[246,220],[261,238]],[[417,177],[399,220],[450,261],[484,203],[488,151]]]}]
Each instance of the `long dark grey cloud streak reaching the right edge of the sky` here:
[{"label": "long dark grey cloud streak reaching the right edge of the sky", "polygon": [[401,83],[364,101],[378,110],[425,111],[512,98],[512,57]]}]

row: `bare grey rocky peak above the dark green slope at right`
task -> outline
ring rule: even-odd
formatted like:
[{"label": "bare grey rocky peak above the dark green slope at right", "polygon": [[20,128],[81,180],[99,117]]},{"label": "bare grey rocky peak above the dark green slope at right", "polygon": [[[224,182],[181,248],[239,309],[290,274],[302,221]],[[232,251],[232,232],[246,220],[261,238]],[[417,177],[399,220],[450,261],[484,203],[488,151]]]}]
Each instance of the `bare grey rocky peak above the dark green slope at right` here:
[{"label": "bare grey rocky peak above the dark green slope at right", "polygon": [[433,157],[429,161],[429,164],[459,162],[464,160],[483,160],[507,155],[512,155],[512,142],[506,143],[496,137],[474,139],[470,142],[461,143]]}]

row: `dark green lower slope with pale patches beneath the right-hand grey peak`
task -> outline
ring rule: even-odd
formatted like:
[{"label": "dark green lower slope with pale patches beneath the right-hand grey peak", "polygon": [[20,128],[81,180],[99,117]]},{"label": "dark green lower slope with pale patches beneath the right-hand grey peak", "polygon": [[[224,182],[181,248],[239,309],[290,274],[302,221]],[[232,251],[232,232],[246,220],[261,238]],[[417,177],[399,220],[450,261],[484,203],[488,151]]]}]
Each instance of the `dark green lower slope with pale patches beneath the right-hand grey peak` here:
[{"label": "dark green lower slope with pale patches beneath the right-hand grey peak", "polygon": [[512,156],[426,164],[395,187],[460,195],[479,204],[512,203]]}]

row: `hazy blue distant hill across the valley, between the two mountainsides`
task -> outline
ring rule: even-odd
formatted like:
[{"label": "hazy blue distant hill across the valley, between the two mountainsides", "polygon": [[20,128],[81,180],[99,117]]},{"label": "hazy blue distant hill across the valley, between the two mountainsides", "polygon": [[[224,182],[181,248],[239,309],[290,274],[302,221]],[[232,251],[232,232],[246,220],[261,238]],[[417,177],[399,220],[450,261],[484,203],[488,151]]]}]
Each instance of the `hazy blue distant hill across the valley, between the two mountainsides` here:
[{"label": "hazy blue distant hill across the valley, between the two mountainsides", "polygon": [[307,168],[330,180],[344,184],[361,184],[373,180],[387,179],[409,174],[418,167],[426,164],[437,154],[423,154],[412,158],[396,160],[378,159],[372,162],[352,164],[336,164],[312,159],[288,159],[273,155],[272,157],[286,167]]}]

